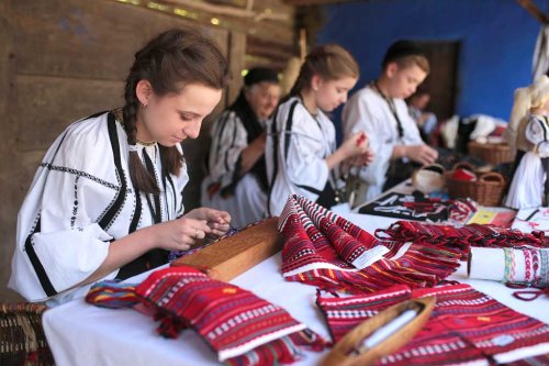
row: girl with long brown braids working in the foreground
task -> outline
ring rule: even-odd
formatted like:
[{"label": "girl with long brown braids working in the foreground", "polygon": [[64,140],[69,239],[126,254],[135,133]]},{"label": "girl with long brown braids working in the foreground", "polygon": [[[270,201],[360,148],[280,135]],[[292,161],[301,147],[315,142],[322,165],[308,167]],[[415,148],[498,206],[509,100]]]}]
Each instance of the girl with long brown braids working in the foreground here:
[{"label": "girl with long brown braids working in the foreground", "polygon": [[199,135],[227,79],[217,46],[191,30],[166,31],[137,52],[125,106],[72,123],[47,151],[19,213],[9,286],[55,304],[226,233],[227,212],[183,214],[180,143]]}]

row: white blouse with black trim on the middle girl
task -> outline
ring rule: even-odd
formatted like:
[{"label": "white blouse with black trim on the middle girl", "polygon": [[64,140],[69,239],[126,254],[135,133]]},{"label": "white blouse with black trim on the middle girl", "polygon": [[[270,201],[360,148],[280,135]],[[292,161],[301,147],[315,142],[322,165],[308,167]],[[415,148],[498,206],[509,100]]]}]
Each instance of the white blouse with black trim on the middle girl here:
[{"label": "white blouse with black trim on the middle girl", "polygon": [[271,182],[268,208],[279,215],[298,193],[324,207],[336,203],[334,171],[325,158],[336,149],[336,131],[326,114],[311,114],[299,97],[280,104],[269,121],[266,163]]}]

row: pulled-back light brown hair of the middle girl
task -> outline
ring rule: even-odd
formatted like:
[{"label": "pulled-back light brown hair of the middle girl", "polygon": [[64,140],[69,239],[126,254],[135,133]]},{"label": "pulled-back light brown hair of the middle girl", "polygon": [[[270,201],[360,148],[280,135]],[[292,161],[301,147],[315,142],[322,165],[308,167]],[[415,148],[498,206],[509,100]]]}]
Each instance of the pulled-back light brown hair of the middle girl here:
[{"label": "pulled-back light brown hair of the middle girl", "polygon": [[301,65],[300,75],[290,90],[290,97],[311,88],[314,75],[320,75],[325,80],[337,80],[344,77],[358,79],[359,74],[355,57],[344,47],[337,44],[316,46]]}]

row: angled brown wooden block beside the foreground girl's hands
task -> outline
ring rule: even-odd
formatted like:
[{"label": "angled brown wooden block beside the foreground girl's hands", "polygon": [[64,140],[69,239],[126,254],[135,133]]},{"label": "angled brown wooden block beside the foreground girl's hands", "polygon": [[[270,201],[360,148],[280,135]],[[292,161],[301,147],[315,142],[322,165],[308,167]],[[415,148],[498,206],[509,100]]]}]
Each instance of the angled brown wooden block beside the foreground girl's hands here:
[{"label": "angled brown wooden block beside the foreground girl's hands", "polygon": [[249,226],[198,252],[182,256],[172,266],[193,266],[211,278],[228,281],[282,249],[278,218]]}]

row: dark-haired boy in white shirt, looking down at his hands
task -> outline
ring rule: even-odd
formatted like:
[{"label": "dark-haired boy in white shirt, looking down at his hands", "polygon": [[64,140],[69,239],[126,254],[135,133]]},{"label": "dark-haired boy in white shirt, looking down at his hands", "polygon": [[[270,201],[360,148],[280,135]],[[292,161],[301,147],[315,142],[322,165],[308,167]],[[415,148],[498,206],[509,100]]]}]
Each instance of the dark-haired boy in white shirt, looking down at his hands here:
[{"label": "dark-haired boy in white shirt, looking down at his hands", "polygon": [[376,153],[376,162],[359,171],[356,204],[410,178],[419,165],[436,160],[438,153],[422,141],[404,102],[428,73],[429,63],[422,49],[411,41],[397,41],[386,51],[378,79],[357,91],[345,106],[344,136],[366,131]]}]

